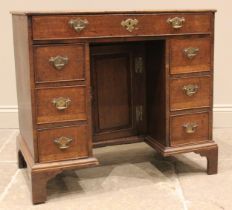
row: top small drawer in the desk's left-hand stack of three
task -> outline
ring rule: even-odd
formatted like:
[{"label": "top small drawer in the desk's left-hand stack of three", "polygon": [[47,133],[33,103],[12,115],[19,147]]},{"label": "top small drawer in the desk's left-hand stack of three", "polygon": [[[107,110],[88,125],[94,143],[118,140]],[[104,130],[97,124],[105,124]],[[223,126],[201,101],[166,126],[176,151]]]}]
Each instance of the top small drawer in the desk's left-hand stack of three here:
[{"label": "top small drawer in the desk's left-hand stack of three", "polygon": [[84,45],[34,47],[37,83],[84,80]]}]

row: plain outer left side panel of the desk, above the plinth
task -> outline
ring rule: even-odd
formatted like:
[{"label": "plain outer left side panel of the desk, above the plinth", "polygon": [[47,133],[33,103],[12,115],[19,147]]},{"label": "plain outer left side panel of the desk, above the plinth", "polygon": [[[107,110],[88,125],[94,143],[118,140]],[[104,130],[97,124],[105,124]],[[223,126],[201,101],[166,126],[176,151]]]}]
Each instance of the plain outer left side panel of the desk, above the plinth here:
[{"label": "plain outer left side panel of the desk, above the plinth", "polygon": [[34,126],[32,117],[33,75],[30,69],[30,35],[28,16],[13,15],[12,20],[19,129],[32,157],[35,158]]}]

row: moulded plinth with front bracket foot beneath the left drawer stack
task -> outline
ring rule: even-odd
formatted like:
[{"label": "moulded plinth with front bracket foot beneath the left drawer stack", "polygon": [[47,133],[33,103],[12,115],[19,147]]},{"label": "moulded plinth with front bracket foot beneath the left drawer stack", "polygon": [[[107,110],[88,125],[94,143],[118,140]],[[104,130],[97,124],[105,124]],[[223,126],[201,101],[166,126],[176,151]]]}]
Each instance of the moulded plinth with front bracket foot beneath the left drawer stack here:
[{"label": "moulded plinth with front bracket foot beneath the left drawer stack", "polygon": [[96,158],[88,157],[49,163],[35,163],[28,150],[26,141],[21,135],[17,136],[17,152],[23,156],[27,165],[29,184],[33,204],[44,203],[47,200],[47,182],[64,170],[74,170],[98,165]]}]

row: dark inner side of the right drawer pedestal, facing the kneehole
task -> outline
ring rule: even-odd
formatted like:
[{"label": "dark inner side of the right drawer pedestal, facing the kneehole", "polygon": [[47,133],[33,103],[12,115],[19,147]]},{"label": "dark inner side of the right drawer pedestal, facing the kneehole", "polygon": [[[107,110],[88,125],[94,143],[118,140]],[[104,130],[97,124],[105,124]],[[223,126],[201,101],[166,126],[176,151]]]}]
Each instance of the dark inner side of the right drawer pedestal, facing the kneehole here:
[{"label": "dark inner side of the right drawer pedestal, facing the kneehole", "polygon": [[166,145],[165,42],[147,43],[146,50],[147,135]]}]

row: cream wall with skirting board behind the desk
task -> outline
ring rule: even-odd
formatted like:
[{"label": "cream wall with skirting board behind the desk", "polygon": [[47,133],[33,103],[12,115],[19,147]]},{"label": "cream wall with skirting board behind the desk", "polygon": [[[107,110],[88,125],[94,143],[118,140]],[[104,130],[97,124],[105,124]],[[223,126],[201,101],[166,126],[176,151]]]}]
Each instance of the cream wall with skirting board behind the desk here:
[{"label": "cream wall with skirting board behind the desk", "polygon": [[0,128],[17,127],[12,22],[9,11],[106,11],[217,9],[215,34],[214,126],[232,127],[232,3],[229,0],[9,0],[0,5]]}]

